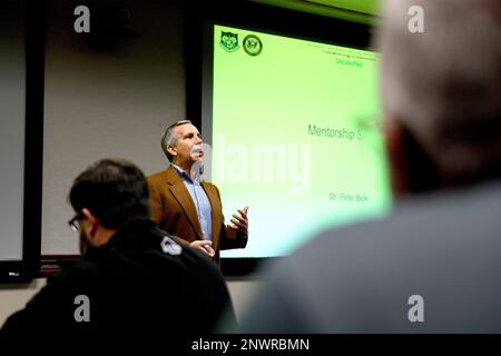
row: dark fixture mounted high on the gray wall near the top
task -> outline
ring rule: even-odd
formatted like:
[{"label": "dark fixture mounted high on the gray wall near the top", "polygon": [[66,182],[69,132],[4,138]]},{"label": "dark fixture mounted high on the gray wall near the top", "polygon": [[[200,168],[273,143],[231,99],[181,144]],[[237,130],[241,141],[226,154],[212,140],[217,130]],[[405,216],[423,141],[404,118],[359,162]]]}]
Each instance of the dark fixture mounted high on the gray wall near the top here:
[{"label": "dark fixture mounted high on the gray wall near the top", "polygon": [[90,32],[85,38],[92,48],[112,49],[121,40],[139,37],[131,24],[131,12],[120,2],[122,1],[88,1]]}]

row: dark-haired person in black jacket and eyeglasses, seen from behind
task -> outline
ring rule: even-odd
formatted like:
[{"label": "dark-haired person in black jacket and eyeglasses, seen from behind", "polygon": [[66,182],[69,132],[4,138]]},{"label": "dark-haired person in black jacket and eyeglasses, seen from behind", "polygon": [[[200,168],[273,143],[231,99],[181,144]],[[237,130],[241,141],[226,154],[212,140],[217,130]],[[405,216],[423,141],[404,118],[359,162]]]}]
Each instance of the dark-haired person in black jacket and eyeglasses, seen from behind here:
[{"label": "dark-haired person in black jacket and eyeglasses, seen from behind", "polygon": [[75,179],[69,200],[82,256],[7,319],[2,343],[63,336],[170,347],[177,334],[212,333],[222,313],[235,320],[217,266],[149,219],[147,181],[134,164],[91,165]]}]

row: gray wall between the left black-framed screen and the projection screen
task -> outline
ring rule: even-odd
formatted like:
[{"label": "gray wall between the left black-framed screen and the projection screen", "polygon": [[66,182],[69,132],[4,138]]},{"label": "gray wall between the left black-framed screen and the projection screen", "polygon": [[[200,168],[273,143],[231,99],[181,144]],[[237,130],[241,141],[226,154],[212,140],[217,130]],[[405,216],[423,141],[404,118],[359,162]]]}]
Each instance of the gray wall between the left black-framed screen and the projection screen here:
[{"label": "gray wall between the left black-framed screen and the projection screen", "polygon": [[[95,2],[127,8],[139,32],[105,50],[73,31],[81,3],[48,1],[42,254],[78,251],[67,194],[81,170],[105,157],[130,159],[146,174],[164,169],[161,130],[185,116],[181,1]],[[106,11],[89,8],[92,32]]]}]

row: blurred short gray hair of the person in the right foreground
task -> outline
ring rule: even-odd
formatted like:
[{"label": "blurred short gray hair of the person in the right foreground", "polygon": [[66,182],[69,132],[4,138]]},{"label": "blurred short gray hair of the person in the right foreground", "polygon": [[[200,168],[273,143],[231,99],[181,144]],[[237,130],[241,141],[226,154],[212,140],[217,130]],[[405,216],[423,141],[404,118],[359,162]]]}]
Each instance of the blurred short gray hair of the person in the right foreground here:
[{"label": "blurred short gray hair of the person in the right foreground", "polygon": [[[412,6],[424,32],[411,33]],[[409,129],[445,177],[501,164],[500,0],[386,0],[382,53],[385,118]]]}]

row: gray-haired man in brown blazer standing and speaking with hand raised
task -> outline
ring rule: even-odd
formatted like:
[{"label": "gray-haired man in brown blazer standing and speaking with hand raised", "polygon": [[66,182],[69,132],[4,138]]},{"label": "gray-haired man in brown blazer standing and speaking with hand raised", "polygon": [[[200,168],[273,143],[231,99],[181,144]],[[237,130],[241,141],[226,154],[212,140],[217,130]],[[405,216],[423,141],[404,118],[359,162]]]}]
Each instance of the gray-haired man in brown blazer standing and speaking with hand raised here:
[{"label": "gray-haired man in brown blazer standing and speaking with hand raised", "polygon": [[219,250],[247,245],[247,209],[226,226],[219,190],[199,177],[204,156],[202,136],[189,120],[170,125],[161,137],[170,166],[148,177],[151,218],[179,243],[204,251],[219,263]]}]

